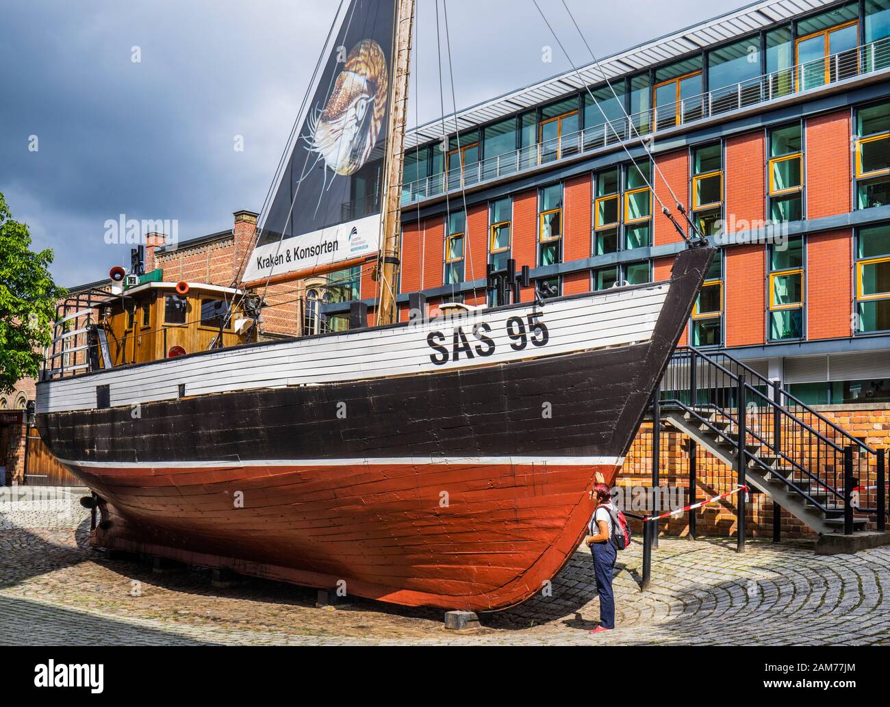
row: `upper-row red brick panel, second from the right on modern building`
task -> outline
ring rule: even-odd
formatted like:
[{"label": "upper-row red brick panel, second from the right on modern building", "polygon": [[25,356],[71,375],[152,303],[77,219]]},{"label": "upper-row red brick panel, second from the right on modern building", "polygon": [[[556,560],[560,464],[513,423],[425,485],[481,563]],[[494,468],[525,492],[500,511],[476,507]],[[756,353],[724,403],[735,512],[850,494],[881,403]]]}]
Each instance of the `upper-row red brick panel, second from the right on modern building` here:
[{"label": "upper-row red brick panel, second from the right on modern building", "polygon": [[[766,138],[763,131],[739,135],[726,141],[725,220],[732,232],[748,228],[751,221],[763,221],[765,215]],[[739,224],[738,221],[747,221]]]}]

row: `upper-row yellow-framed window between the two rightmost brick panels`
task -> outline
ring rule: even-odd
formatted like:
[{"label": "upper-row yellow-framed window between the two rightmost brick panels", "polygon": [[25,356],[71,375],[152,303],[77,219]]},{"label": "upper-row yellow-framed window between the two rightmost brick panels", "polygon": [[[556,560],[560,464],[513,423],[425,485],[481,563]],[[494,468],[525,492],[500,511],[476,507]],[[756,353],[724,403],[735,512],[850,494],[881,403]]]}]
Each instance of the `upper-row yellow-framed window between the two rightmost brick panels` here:
[{"label": "upper-row yellow-framed window between the two rightmost brick panels", "polygon": [[769,213],[774,222],[804,218],[804,147],[800,123],[770,131]]}]

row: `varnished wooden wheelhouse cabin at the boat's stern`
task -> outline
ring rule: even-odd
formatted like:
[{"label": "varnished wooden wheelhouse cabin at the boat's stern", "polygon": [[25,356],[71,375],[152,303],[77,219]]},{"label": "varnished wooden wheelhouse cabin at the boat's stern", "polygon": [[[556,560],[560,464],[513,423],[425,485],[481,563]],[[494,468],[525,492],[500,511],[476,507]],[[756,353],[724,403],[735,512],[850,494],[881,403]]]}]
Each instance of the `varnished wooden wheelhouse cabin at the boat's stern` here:
[{"label": "varnished wooden wheelhouse cabin at the boat's stern", "polygon": [[244,312],[242,295],[238,289],[217,285],[146,282],[109,296],[99,306],[107,342],[106,348],[100,340],[101,367],[141,364],[256,341],[257,326]]}]

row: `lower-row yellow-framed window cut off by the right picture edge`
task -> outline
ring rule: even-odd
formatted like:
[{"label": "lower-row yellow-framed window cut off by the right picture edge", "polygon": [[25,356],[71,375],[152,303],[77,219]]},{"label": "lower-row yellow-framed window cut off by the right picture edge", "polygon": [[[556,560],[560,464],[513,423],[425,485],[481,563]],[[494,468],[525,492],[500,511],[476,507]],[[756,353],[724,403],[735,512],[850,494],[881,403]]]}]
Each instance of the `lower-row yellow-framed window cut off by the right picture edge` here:
[{"label": "lower-row yellow-framed window cut off by the right picture edge", "polygon": [[856,333],[890,330],[890,224],[856,234]]}]

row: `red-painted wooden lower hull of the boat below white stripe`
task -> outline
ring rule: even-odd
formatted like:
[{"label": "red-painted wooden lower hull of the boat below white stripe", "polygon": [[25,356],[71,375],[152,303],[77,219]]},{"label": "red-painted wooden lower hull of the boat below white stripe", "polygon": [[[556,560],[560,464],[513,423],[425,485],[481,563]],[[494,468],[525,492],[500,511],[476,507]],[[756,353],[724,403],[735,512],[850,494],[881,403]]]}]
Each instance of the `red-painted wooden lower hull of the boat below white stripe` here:
[{"label": "red-painted wooden lower hull of the boat below white stripe", "polygon": [[514,606],[586,534],[611,463],[73,467],[100,495],[96,547],[410,607]]}]

